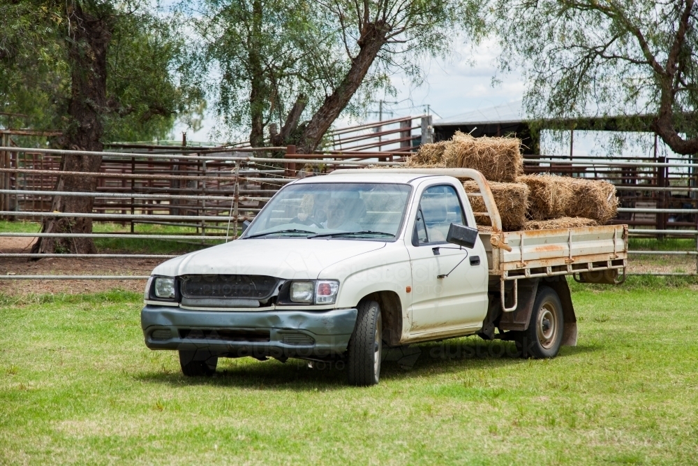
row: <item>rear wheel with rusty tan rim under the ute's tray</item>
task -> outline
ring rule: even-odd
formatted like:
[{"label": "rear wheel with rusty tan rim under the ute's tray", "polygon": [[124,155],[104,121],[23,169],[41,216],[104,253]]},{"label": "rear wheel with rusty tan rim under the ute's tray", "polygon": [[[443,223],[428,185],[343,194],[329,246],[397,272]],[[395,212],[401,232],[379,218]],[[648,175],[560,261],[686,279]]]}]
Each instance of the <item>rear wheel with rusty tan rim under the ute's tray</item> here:
[{"label": "rear wheel with rusty tan rim under the ute's tray", "polygon": [[540,286],[535,295],[530,323],[517,332],[516,342],[523,358],[554,358],[563,341],[565,321],[558,293],[549,286]]}]

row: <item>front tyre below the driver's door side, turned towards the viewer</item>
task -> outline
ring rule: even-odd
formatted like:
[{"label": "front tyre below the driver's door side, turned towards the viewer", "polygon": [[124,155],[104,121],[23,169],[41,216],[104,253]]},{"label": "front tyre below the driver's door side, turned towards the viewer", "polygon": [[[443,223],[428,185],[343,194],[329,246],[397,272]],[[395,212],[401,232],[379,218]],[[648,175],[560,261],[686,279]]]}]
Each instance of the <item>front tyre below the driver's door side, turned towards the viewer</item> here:
[{"label": "front tyre below the driver's door side, turned towards the viewer", "polygon": [[359,314],[347,350],[347,377],[350,385],[376,385],[383,354],[380,305],[376,301],[362,301],[357,309]]}]

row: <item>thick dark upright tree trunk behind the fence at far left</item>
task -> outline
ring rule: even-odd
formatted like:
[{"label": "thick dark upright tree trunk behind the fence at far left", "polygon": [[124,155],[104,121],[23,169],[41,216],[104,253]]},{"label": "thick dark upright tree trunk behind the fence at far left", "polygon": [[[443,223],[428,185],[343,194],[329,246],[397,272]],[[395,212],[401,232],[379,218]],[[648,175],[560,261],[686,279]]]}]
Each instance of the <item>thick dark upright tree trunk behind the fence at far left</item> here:
[{"label": "thick dark upright tree trunk behind the fence at far left", "polygon": [[[101,152],[102,115],[107,94],[107,46],[111,38],[107,21],[82,10],[79,2],[66,2],[68,55],[70,58],[71,96],[68,106],[71,124],[66,131],[70,150]],[[61,170],[98,173],[101,156],[64,155]],[[56,191],[95,192],[96,177],[59,175]],[[54,196],[52,211],[89,213],[94,198]],[[44,219],[42,233],[92,233],[92,221],[85,217]],[[32,253],[94,254],[91,238],[39,238]]]}]

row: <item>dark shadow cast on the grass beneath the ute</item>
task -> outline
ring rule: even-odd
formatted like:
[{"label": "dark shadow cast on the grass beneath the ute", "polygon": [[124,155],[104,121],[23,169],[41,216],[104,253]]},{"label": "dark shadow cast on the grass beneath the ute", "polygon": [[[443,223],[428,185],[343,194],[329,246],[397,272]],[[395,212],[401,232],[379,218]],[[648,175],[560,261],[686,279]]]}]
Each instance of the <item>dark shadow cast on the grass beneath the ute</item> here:
[{"label": "dark shadow cast on the grass beneath the ute", "polygon": [[[595,347],[563,347],[558,358],[595,351]],[[411,347],[390,349],[384,355],[381,379],[385,381],[463,372],[472,369],[516,367],[526,363],[513,342],[462,338],[430,342]],[[254,361],[251,358],[221,358],[214,377],[184,377],[179,372],[141,372],[135,379],[153,384],[176,386],[230,386],[278,391],[337,390],[346,388],[346,365],[343,361],[313,363],[289,359]]]}]

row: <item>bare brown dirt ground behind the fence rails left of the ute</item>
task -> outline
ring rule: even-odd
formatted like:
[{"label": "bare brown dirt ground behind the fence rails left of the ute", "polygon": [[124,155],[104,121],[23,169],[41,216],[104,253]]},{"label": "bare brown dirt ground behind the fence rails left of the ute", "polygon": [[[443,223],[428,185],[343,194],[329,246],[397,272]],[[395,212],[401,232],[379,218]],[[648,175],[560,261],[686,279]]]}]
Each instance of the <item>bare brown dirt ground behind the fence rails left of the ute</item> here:
[{"label": "bare brown dirt ground behind the fence rails left of the ute", "polygon": [[[150,275],[165,259],[40,259],[3,258],[27,253],[35,238],[0,238],[0,275]],[[95,293],[112,289],[142,292],[145,280],[0,280],[0,293]]]}]

